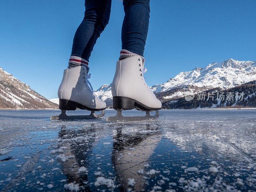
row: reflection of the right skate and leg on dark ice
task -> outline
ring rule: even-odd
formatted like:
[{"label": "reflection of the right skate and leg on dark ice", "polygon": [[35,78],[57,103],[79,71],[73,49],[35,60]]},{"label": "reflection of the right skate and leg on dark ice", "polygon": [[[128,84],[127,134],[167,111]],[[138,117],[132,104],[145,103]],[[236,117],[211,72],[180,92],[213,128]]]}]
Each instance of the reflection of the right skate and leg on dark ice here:
[{"label": "reflection of the right skate and leg on dark ice", "polygon": [[[141,127],[140,127],[141,129]],[[135,191],[142,191],[147,184],[143,175],[144,167],[152,156],[154,149],[161,140],[161,132],[157,129],[150,129],[146,125],[144,133],[132,130],[132,133],[122,133],[125,126],[117,128],[117,133],[113,140],[112,162],[115,167],[117,179],[121,188],[134,188]],[[145,166],[146,165],[146,166]]]}]

